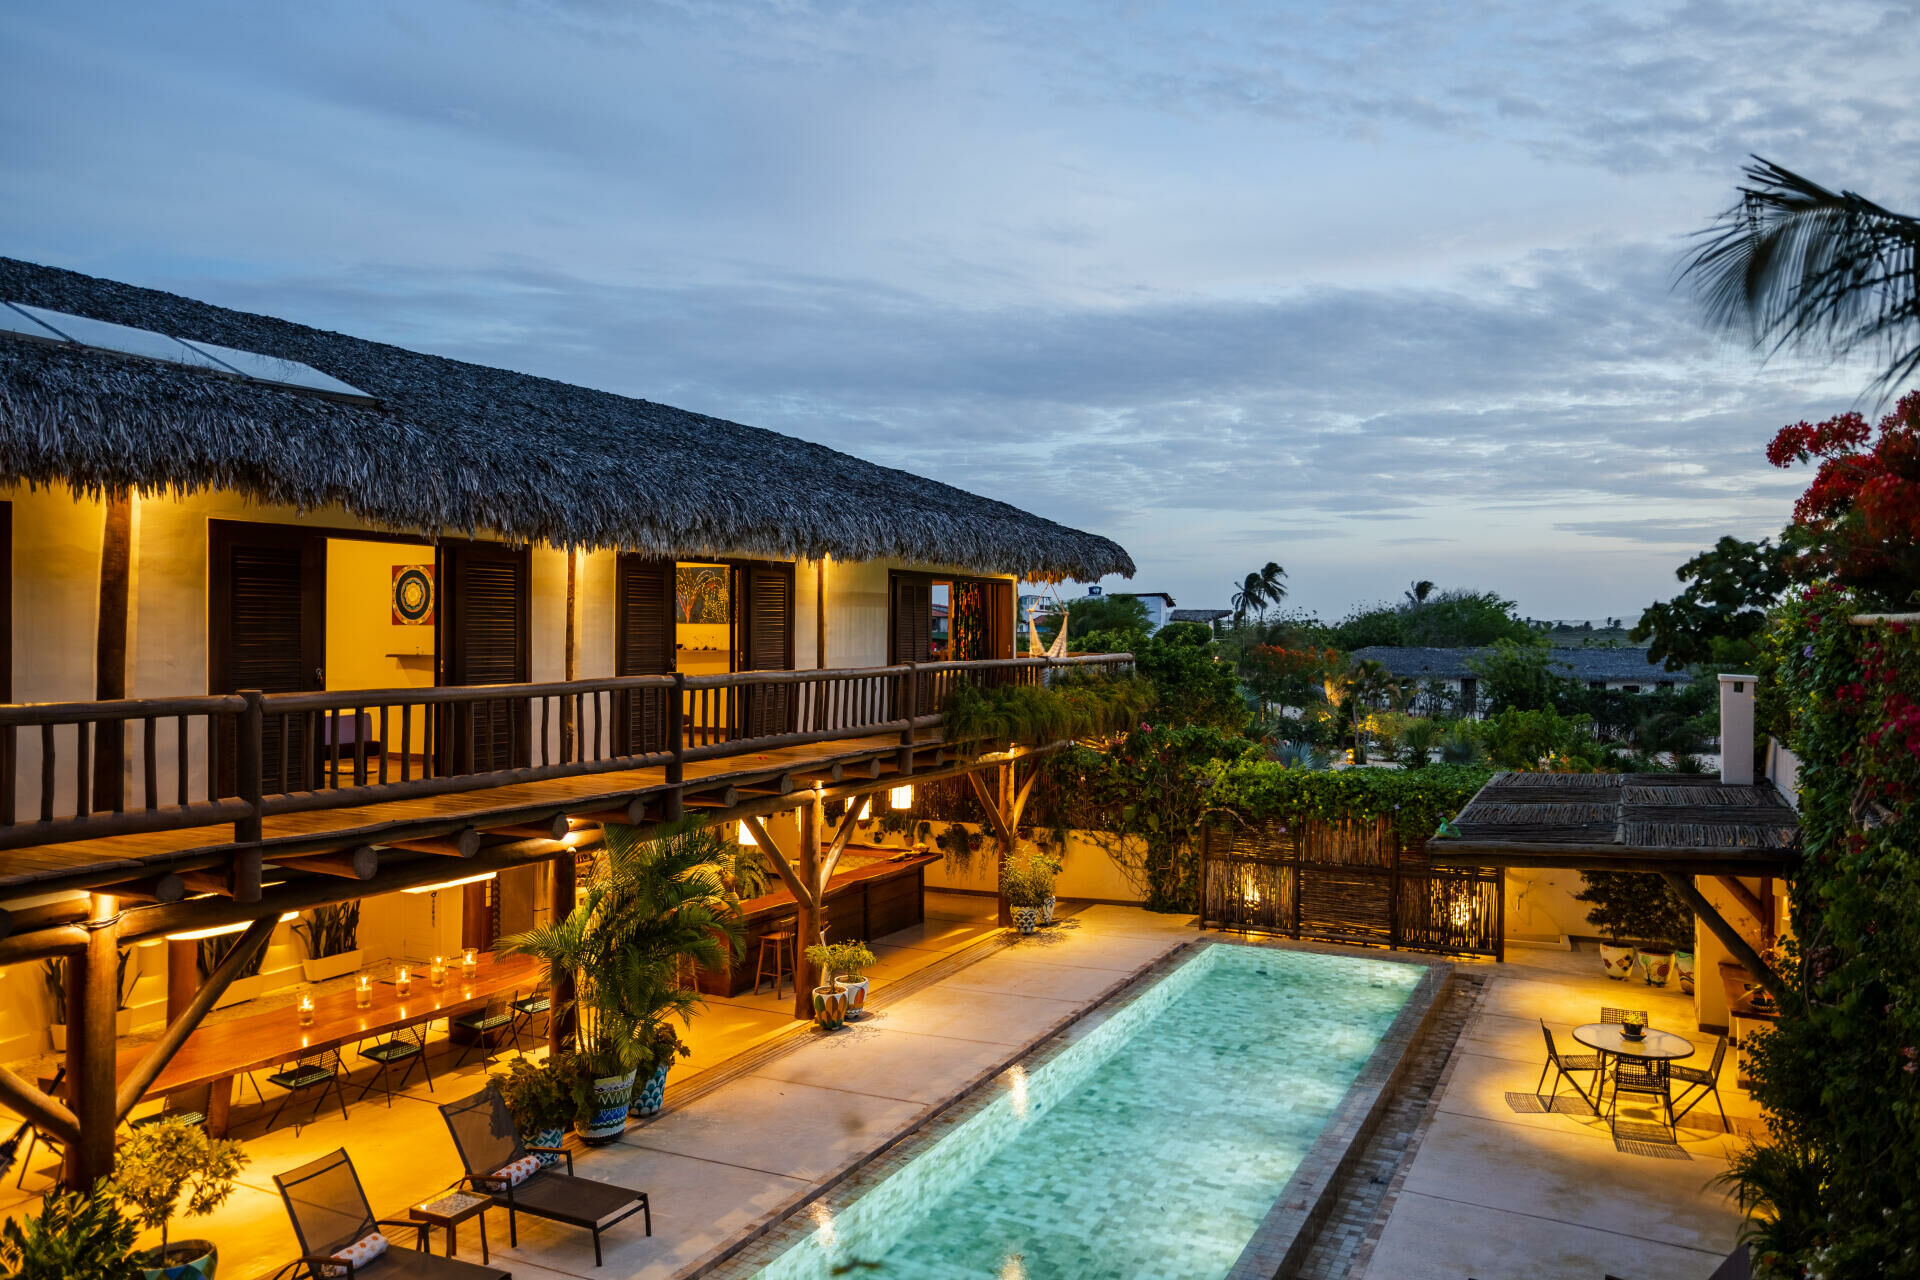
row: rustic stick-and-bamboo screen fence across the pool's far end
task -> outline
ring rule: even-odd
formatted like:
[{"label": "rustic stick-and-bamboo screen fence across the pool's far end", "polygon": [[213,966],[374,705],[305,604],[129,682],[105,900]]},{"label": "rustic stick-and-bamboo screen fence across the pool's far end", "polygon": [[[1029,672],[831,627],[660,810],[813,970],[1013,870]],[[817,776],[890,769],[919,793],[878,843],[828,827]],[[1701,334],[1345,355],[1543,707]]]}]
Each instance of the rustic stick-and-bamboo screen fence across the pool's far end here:
[{"label": "rustic stick-and-bamboo screen fence across the pool's far end", "polygon": [[1503,958],[1503,873],[1434,867],[1392,819],[1208,827],[1200,927]]}]

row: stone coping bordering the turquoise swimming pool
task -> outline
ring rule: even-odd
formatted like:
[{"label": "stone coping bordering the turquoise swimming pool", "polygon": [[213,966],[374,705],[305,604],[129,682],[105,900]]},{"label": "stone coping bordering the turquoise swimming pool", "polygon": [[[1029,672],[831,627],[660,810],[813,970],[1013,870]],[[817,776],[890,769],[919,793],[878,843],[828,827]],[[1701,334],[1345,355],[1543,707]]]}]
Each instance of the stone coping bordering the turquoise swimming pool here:
[{"label": "stone coping bordering the turquoise swimming pool", "polygon": [[[981,1071],[972,1082],[956,1090],[943,1103],[937,1103],[927,1115],[920,1117],[912,1128],[877,1148],[868,1157],[843,1169],[839,1176],[812,1188],[804,1197],[785,1207],[783,1213],[772,1215],[756,1232],[751,1232],[749,1236],[733,1242],[728,1249],[703,1259],[699,1267],[684,1274],[716,1276],[724,1280],[745,1280],[753,1276],[789,1247],[818,1230],[820,1217],[837,1215],[851,1201],[864,1196],[916,1155],[945,1138],[954,1126],[991,1105],[998,1098],[998,1090],[989,1088],[989,1084],[1002,1080],[1012,1067],[1039,1069],[1052,1061],[1052,1057],[1062,1054],[1081,1036],[1081,1032],[1091,1025],[1091,1019],[1112,1015],[1114,1011],[1133,1004],[1162,977],[1192,960],[1202,946],[1267,946],[1273,950],[1313,952],[1350,960],[1356,958],[1356,952],[1350,946],[1294,942],[1286,938],[1254,940],[1204,935],[1183,942],[1133,977],[1116,984],[1087,1007],[1064,1019],[1043,1038],[1027,1044],[1025,1048],[1014,1050],[1004,1061]],[[1327,1126],[1308,1150],[1306,1159],[1302,1159],[1300,1169],[1294,1171],[1294,1176],[1283,1188],[1275,1207],[1254,1230],[1252,1240],[1246,1249],[1242,1249],[1242,1255],[1231,1272],[1235,1278],[1275,1276],[1279,1274],[1279,1267],[1288,1263],[1298,1265],[1298,1261],[1306,1257],[1308,1249],[1311,1249],[1315,1232],[1332,1211],[1342,1173],[1357,1157],[1359,1150],[1365,1146],[1373,1128],[1384,1115],[1392,1088],[1404,1075],[1407,1050],[1417,1042],[1419,1032],[1425,1029],[1427,1019],[1436,1006],[1440,990],[1452,977],[1452,965],[1436,958],[1390,952],[1365,952],[1365,958],[1419,965],[1427,969],[1427,975],[1423,975],[1419,984],[1407,994],[1405,1006],[1402,1006],[1392,1025],[1388,1025],[1386,1034],[1367,1057],[1367,1063],[1354,1079],[1354,1084],[1348,1086],[1348,1092],[1334,1107]],[[1298,1209],[1294,1205],[1298,1205]],[[1265,1272],[1246,1270],[1250,1261],[1258,1267],[1263,1257],[1275,1257],[1275,1267]]]}]

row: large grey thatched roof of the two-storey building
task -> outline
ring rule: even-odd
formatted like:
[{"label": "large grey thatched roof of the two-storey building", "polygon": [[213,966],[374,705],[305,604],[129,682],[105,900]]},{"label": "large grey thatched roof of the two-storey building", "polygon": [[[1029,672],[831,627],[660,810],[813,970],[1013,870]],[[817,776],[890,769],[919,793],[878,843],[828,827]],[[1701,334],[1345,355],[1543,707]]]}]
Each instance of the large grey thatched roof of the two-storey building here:
[{"label": "large grey thatched roof of the two-storey building", "polygon": [[6,257],[0,299],[301,361],[380,401],[0,334],[0,476],[13,480],[83,493],[234,489],[340,505],[397,530],[657,555],[1133,574],[1106,537],[668,405]]}]

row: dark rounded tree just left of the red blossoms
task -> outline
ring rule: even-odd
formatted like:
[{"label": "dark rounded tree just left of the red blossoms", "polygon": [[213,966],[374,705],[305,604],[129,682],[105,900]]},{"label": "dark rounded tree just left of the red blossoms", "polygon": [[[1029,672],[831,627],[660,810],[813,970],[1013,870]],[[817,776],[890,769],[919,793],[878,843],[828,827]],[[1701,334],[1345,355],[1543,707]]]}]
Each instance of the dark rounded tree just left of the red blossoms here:
[{"label": "dark rounded tree just left of the red blossoms", "polygon": [[1651,641],[1647,660],[1667,664],[1668,672],[1695,664],[1747,670],[1766,610],[1788,589],[1780,547],[1764,537],[1757,543],[1722,537],[1676,568],[1674,578],[1686,591],[1649,604],[1632,629],[1636,643]]}]

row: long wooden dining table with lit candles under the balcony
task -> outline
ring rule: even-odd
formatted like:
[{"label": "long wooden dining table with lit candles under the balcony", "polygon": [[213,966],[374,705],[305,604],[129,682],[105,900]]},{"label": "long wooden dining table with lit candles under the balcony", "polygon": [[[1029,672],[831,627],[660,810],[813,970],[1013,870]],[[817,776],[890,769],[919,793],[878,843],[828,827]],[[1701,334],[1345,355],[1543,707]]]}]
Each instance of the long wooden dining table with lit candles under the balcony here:
[{"label": "long wooden dining table with lit candles under the balcony", "polygon": [[[438,988],[428,981],[426,965],[407,965],[413,986],[405,996],[396,990],[394,969],[388,967],[374,975],[372,1002],[365,1009],[359,1007],[353,986],[317,996],[311,1027],[300,1025],[298,1004],[204,1023],[186,1038],[144,1098],[205,1084],[209,1086],[207,1132],[225,1138],[236,1075],[280,1067],[307,1054],[371,1040],[403,1027],[459,1017],[497,996],[511,1000],[516,990],[532,992],[543,977],[540,961],[526,956],[495,958],[492,952],[482,952],[476,960],[474,977],[467,979],[461,975],[459,958],[451,958],[445,983]],[[150,1050],[152,1044],[121,1046],[115,1075],[125,1079]],[[40,1088],[50,1086],[52,1079],[40,1080]]]}]

